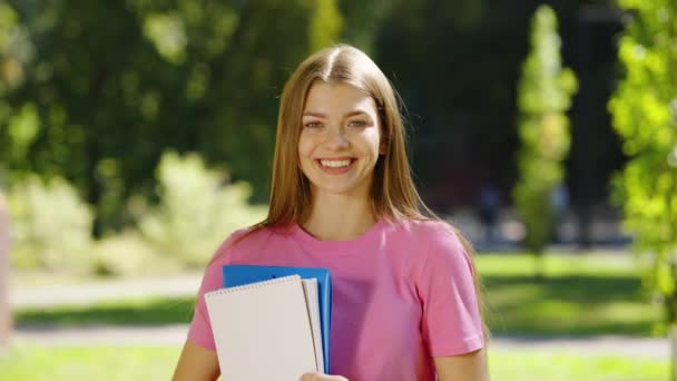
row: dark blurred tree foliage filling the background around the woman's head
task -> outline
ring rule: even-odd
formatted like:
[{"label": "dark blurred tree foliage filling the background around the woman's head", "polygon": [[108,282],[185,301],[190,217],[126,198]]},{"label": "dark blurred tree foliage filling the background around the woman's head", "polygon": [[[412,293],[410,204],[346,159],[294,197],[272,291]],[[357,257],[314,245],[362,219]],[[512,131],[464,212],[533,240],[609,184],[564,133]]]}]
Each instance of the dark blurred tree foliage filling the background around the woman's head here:
[{"label": "dark blurred tree foliage filling the background around the woman's head", "polygon": [[512,185],[507,127],[536,3],[0,0],[0,166],[67,178],[100,234],[131,223],[131,195],[157,201],[166,148],[227,163],[263,203],[284,80],[311,50],[345,41],[401,91],[422,194],[447,213],[472,202],[478,174]]}]

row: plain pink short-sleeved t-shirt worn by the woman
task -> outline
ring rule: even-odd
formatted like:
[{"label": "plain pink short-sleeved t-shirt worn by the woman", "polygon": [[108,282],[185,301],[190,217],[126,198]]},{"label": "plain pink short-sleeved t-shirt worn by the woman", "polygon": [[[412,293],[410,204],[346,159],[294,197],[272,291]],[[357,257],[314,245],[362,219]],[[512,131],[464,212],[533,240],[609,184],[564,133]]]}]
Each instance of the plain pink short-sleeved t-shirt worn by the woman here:
[{"label": "plain pink short-sleeved t-shirt worn by the woman", "polygon": [[352,241],[320,241],[293,225],[232,245],[243,233],[226,240],[203,279],[188,332],[200,346],[215,349],[203,295],[222,287],[225,264],[327,267],[331,373],[351,381],[434,380],[432,356],[483,345],[472,266],[444,223],[381,219]]}]

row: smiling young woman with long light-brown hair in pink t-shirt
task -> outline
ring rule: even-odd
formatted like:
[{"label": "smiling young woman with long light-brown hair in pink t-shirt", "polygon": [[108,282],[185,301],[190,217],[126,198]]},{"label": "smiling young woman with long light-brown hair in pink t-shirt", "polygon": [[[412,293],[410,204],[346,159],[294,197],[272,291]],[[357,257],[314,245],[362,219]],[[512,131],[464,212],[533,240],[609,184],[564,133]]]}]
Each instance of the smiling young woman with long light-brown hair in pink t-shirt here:
[{"label": "smiling young woman with long light-brown hair in pink t-shirt", "polygon": [[282,94],[267,218],[208,265],[175,380],[219,374],[203,295],[225,264],[327,267],[332,373],[302,380],[487,380],[470,248],[421,202],[395,94],[350,46],[307,58]]}]

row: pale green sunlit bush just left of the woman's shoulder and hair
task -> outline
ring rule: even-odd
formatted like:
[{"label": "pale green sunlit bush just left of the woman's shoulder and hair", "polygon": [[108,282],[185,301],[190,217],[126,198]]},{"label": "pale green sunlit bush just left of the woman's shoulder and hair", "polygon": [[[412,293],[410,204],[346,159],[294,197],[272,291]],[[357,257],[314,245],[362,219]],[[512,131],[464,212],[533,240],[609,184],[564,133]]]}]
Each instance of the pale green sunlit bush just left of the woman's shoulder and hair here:
[{"label": "pale green sunlit bush just left of the woman's shoulder and hair", "polygon": [[139,231],[186,267],[204,266],[224,237],[266,215],[265,207],[247,203],[248,184],[230,184],[227,173],[207,168],[195,153],[164,154],[156,176],[160,203],[143,214]]}]

